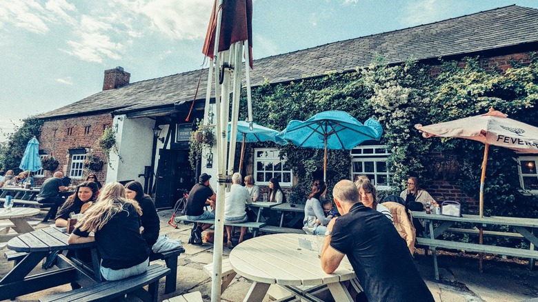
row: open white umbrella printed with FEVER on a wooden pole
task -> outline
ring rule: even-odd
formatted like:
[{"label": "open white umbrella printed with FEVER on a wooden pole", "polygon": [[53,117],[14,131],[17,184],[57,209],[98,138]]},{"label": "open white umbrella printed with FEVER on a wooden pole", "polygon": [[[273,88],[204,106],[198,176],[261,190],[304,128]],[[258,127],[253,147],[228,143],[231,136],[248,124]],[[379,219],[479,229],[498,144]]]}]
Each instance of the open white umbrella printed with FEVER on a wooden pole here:
[{"label": "open white umbrella printed with FEVER on a wooden pole", "polygon": [[[433,125],[415,125],[423,137],[459,137],[484,143],[484,160],[480,177],[480,217],[484,216],[484,181],[488,163],[489,145],[498,145],[521,153],[538,153],[538,128],[520,121],[508,119],[508,115],[490,108],[486,114],[446,121]],[[479,243],[482,244],[482,227]],[[482,256],[480,256],[480,271]]]}]

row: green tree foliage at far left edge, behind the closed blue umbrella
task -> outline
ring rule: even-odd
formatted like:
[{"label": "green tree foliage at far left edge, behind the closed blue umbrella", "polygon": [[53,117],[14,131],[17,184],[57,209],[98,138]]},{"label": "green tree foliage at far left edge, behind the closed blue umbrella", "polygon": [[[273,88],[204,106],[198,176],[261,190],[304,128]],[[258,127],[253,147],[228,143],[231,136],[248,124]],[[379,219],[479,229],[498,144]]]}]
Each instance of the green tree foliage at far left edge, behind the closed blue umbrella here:
[{"label": "green tree foliage at far left edge, behind the closed blue umbrella", "polygon": [[28,117],[23,120],[23,125],[15,127],[12,134],[8,135],[8,142],[0,146],[0,166],[3,170],[13,170],[15,174],[21,172],[19,165],[26,149],[26,144],[32,137],[41,134],[43,120]]}]

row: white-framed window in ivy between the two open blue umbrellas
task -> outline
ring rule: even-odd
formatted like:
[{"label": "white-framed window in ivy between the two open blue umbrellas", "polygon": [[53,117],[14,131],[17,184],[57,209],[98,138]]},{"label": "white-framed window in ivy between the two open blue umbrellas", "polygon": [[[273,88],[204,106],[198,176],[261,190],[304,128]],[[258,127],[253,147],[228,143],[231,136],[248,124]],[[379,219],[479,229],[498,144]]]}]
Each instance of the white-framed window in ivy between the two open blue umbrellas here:
[{"label": "white-framed window in ivy between the two open blue umbrellas", "polygon": [[280,159],[277,148],[254,150],[254,178],[259,185],[268,185],[273,177],[281,186],[291,186],[293,173],[286,159]]}]

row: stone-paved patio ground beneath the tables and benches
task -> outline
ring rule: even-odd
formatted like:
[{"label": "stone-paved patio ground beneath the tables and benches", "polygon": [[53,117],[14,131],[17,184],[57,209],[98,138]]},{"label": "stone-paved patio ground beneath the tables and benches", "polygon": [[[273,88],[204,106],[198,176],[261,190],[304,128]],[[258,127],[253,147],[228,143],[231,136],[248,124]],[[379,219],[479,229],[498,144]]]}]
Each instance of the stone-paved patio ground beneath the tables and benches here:
[{"label": "stone-paved patio ground beneath the tables and benches", "polygon": [[[46,212],[34,217],[44,217]],[[212,245],[190,245],[187,243],[191,225],[179,224],[178,229],[168,225],[171,210],[158,212],[161,217],[161,234],[167,233],[172,239],[181,239],[186,252],[179,256],[177,270],[177,290],[171,294],[163,294],[164,279],[159,283],[159,301],[172,296],[185,294],[186,292],[201,292],[204,301],[210,301],[211,279],[203,272],[203,265],[212,262]],[[46,228],[52,222],[40,223],[37,228]],[[12,268],[13,263],[6,261],[0,250],[0,276],[4,276]],[[230,250],[223,248],[223,258],[228,258]],[[415,254],[415,263],[423,276],[428,288],[430,288],[435,301],[438,302],[479,302],[479,301],[524,301],[538,297],[538,269],[528,270],[526,261],[507,261],[495,258],[484,262],[484,273],[478,272],[478,261],[473,257],[455,256],[450,253],[439,255],[439,269],[441,282],[437,282],[433,276],[432,257],[424,256],[424,252]],[[159,261],[155,261],[159,263]],[[160,261],[164,265],[164,261]],[[41,268],[36,268],[36,272]],[[237,277],[222,295],[222,301],[238,302],[250,288],[250,281],[243,277]],[[37,301],[40,296],[54,292],[70,290],[70,285],[62,285],[57,288],[43,290],[25,296],[19,296],[15,301]],[[127,298],[125,301],[138,301],[135,298]],[[264,301],[271,301],[266,296]]]}]

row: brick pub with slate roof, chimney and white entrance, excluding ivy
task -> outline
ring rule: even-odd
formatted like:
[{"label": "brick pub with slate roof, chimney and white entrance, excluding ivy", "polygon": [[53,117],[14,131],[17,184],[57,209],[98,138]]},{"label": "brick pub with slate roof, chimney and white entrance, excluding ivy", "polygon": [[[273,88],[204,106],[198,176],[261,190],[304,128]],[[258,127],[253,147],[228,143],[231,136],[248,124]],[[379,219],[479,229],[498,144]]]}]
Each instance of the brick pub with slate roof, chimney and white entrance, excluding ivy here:
[{"label": "brick pub with slate roof, chimney and white entrance, excluding ivy", "polygon": [[[479,55],[485,68],[506,70],[514,63],[529,63],[530,53],[537,50],[538,10],[506,6],[257,59],[250,77],[253,87],[266,81],[289,83],[325,77],[329,71],[350,72],[368,66],[378,56],[388,64],[413,58],[435,66],[439,58],[459,60]],[[435,68],[432,72],[435,74]],[[41,115],[45,120],[40,138],[43,154],[53,152],[60,161],[58,170],[71,176],[77,172],[78,166],[74,163],[84,156],[90,153],[99,157],[104,155],[97,139],[105,127],[112,126],[116,131],[118,152],[111,152],[110,167],[105,165],[99,171],[99,177],[106,177],[107,181],[141,181],[148,192],[155,192],[158,206],[173,205],[179,197],[179,189],[188,189],[195,182],[195,172],[188,163],[188,137],[193,129],[192,121],[212,110],[204,110],[205,94],[196,93],[197,87],[206,87],[206,74],[207,70],[194,70],[129,83],[130,74],[123,68],[106,70],[102,92]],[[191,119],[185,121],[195,95],[198,96],[195,110]],[[361,146],[359,149],[368,148],[374,150],[377,147]],[[254,152],[252,156],[255,165],[251,172],[255,177],[261,173],[261,179],[264,172],[257,171],[256,164],[280,160],[277,151],[264,152],[269,155],[262,158]],[[375,160],[383,160],[387,155],[379,154],[379,159],[374,160],[353,154],[353,162],[363,167]],[[216,172],[216,167],[207,168],[206,159],[202,160],[201,166],[203,172]],[[436,171],[450,173],[450,168]],[[353,174],[352,170],[350,177]],[[47,172],[45,176],[48,175]],[[377,181],[376,172],[372,172],[372,177]],[[441,179],[445,180],[430,183],[428,187],[434,197],[468,199],[450,177]],[[258,184],[266,183],[258,181]],[[289,188],[292,181],[283,185]]]}]

